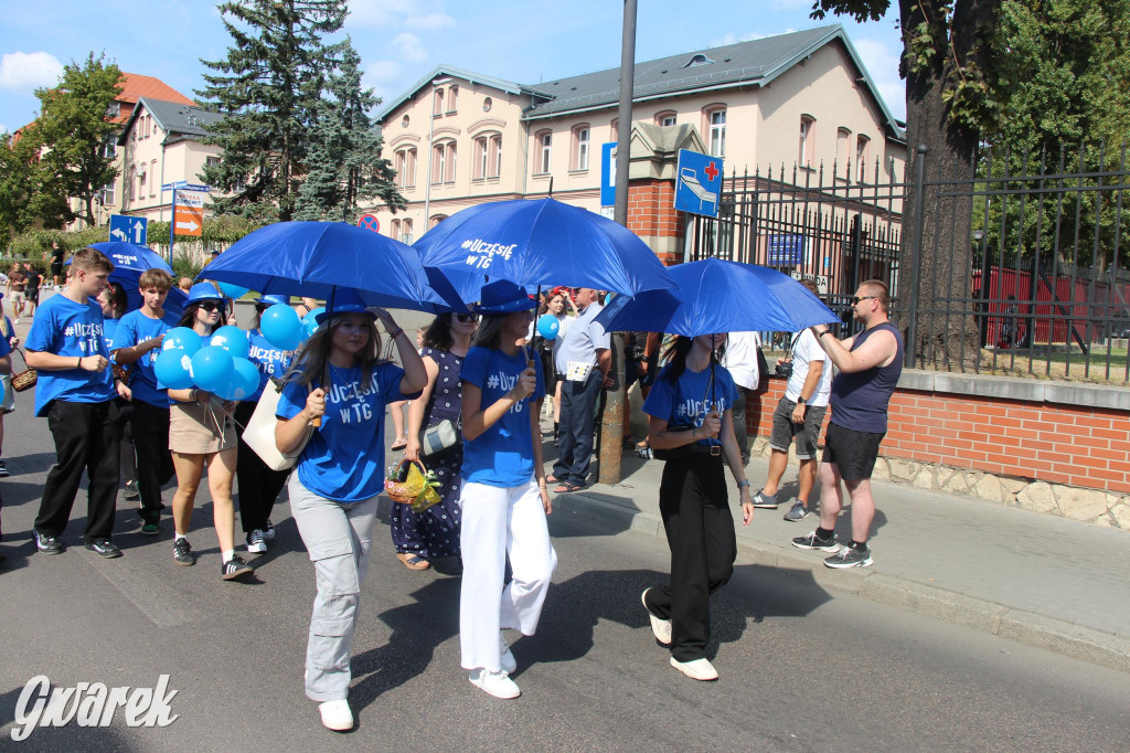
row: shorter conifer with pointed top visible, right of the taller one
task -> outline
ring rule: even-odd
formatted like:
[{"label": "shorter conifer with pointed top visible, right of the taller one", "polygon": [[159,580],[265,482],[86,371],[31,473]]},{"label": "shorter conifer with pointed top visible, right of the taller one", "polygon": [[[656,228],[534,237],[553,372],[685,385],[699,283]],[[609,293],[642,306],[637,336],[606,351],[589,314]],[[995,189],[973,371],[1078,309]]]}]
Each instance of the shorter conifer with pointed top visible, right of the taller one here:
[{"label": "shorter conifer with pointed top visible, right of the taller one", "polygon": [[395,172],[381,156],[381,137],[368,112],[381,103],[360,83],[360,57],[347,38],[341,63],[330,77],[311,129],[310,172],[298,190],[297,219],[357,219],[358,207],[380,198],[395,211],[405,207]]}]

